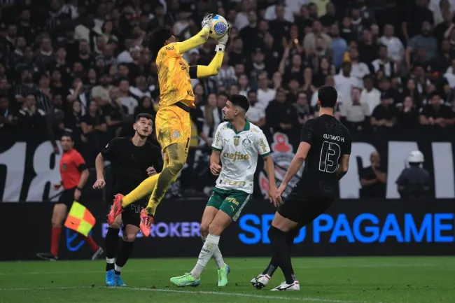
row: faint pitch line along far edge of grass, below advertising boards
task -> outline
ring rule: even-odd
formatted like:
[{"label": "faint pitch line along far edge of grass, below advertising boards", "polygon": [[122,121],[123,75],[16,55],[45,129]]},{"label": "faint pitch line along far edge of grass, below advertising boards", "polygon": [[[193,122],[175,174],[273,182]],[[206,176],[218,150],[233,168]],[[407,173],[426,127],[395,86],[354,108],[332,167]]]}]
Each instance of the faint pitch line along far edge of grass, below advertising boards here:
[{"label": "faint pitch line along far edge of grass, below advertising boards", "polygon": [[[1,264],[1,263],[0,263]],[[381,268],[381,267],[429,267],[435,266],[432,264],[372,264],[372,265],[321,265],[321,266],[296,266],[294,269],[323,269],[323,268]],[[265,267],[239,267],[238,271],[249,269],[264,269]],[[167,268],[149,268],[149,269],[130,269],[127,272],[172,272],[174,269]],[[70,272],[0,272],[0,276],[29,276],[37,274],[97,274],[101,270],[90,270],[85,272],[70,271]]]}]

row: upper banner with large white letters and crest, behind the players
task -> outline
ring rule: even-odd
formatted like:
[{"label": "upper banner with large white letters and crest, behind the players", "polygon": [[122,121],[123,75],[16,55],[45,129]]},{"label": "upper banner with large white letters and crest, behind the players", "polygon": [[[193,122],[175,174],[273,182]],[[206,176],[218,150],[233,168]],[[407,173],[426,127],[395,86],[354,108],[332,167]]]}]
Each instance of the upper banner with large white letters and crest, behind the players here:
[{"label": "upper banner with large white letters and crest, behind the players", "polygon": [[[293,134],[265,131],[275,163],[276,181],[281,182],[290,161],[300,143],[298,132]],[[455,198],[454,157],[455,136],[444,129],[395,129],[393,132],[353,133],[349,171],[340,181],[339,197],[359,199],[360,172],[370,166],[370,154],[377,151],[381,156],[381,167],[387,172],[386,199],[399,199],[395,181],[405,169],[406,160],[412,150],[421,150],[425,156],[423,167],[433,179],[434,195],[437,199]],[[55,201],[52,183],[59,181],[58,163],[60,155],[53,153],[50,141],[43,134],[9,134],[1,132],[0,146],[0,201],[40,202]],[[208,166],[208,164],[206,165]],[[198,178],[195,188],[213,186],[213,178],[200,177],[201,169],[193,171]],[[210,174],[208,169],[204,174]],[[299,180],[302,169],[288,184],[288,191]],[[255,197],[267,193],[267,178],[262,160],[258,161],[255,174]],[[210,183],[203,184],[204,181]],[[191,185],[191,184],[189,184]]]}]

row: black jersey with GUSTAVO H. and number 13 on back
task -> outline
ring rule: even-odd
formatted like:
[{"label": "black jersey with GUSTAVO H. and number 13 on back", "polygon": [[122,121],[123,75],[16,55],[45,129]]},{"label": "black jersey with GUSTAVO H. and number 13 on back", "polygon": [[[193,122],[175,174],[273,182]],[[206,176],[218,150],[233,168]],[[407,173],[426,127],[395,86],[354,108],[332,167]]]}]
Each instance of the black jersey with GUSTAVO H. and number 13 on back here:
[{"label": "black jersey with GUSTAVO H. and number 13 on back", "polygon": [[335,197],[338,189],[337,170],[342,155],[351,154],[349,130],[332,115],[320,115],[302,127],[300,142],[311,147],[300,182],[293,195]]}]

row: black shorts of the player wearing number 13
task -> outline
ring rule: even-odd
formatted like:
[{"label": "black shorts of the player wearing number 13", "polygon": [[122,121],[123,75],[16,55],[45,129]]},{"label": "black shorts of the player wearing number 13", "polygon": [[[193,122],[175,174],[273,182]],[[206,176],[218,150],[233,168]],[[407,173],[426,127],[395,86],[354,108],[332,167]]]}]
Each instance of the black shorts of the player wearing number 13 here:
[{"label": "black shorts of the player wearing number 13", "polygon": [[284,218],[288,218],[304,226],[313,222],[314,219],[327,211],[334,200],[329,197],[305,196],[302,196],[300,199],[286,199],[279,206],[278,213]]}]

